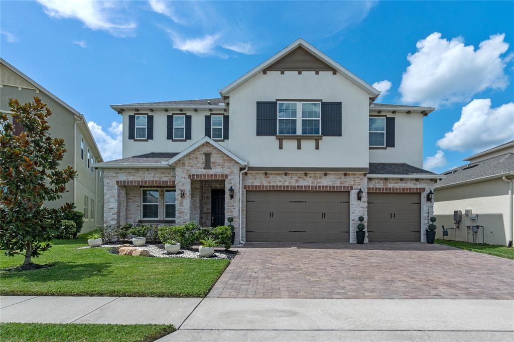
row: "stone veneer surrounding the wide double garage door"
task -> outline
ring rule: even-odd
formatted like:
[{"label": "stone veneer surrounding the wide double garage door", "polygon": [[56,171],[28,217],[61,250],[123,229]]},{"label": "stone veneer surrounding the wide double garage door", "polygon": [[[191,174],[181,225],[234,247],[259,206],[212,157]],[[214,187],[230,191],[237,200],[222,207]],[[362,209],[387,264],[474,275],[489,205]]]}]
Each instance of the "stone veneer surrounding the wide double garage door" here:
[{"label": "stone veneer surrounding the wide double garage door", "polygon": [[[364,216],[364,223],[368,220],[367,208],[368,208],[368,197],[365,195],[366,178],[362,173],[333,173],[328,172],[288,172],[287,176],[283,172],[268,172],[265,175],[264,172],[248,172],[243,176],[243,188],[245,185],[309,185],[309,186],[352,186],[353,189],[350,191],[350,242],[357,242],[355,230],[359,223],[359,216]],[[357,200],[357,192],[359,188],[364,191],[362,201]],[[245,240],[245,209],[246,209],[246,191],[243,190],[243,210],[242,210],[242,236]],[[366,242],[368,242],[368,236],[366,234]]]}]

